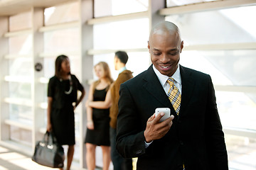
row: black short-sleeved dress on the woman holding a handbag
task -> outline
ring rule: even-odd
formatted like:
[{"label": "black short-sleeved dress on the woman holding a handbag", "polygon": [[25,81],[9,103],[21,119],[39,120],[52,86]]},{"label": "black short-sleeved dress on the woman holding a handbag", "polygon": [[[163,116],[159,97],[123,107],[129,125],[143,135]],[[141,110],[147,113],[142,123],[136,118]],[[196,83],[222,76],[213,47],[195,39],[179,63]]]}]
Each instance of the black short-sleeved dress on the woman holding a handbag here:
[{"label": "black short-sleeved dress on the woman holding a handbag", "polygon": [[75,113],[73,103],[77,101],[78,91],[84,88],[75,75],[71,74],[73,89],[70,94],[70,81],[60,81],[58,77],[52,77],[48,83],[48,97],[53,98],[50,111],[50,122],[53,132],[60,145],[75,145]]}]

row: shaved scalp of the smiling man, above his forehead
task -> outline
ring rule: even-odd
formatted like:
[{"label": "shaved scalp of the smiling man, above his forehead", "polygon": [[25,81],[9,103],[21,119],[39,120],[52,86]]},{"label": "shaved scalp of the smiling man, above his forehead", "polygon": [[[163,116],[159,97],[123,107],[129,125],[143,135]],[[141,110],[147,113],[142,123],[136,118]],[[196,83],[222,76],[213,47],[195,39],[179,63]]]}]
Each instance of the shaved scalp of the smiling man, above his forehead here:
[{"label": "shaved scalp of the smiling man, above his forehead", "polygon": [[149,35],[149,42],[151,41],[152,35],[158,34],[158,35],[165,35],[165,36],[177,36],[178,39],[181,41],[181,34],[178,29],[178,27],[169,21],[164,21],[161,23],[156,24],[154,28],[151,29],[150,35]]}]

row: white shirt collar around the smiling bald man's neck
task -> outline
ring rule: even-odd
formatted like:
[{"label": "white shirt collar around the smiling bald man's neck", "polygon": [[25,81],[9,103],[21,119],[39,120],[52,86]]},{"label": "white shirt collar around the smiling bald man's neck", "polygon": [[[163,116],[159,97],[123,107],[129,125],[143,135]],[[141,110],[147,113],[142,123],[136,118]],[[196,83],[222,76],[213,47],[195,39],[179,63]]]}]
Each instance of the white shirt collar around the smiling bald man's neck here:
[{"label": "white shirt collar around the smiling bald man's neck", "polygon": [[[169,79],[168,76],[164,75],[164,74],[161,74],[157,69],[156,67],[154,67],[154,64],[153,64],[153,69],[154,69],[154,72],[156,73],[156,76],[158,77],[160,83],[162,86],[164,86],[164,84],[166,83],[167,79]],[[172,78],[177,81],[178,84],[181,84],[181,72],[180,72],[180,67],[179,67],[179,64],[178,64],[178,68],[176,69],[176,72],[174,73],[174,75],[172,75]]]}]

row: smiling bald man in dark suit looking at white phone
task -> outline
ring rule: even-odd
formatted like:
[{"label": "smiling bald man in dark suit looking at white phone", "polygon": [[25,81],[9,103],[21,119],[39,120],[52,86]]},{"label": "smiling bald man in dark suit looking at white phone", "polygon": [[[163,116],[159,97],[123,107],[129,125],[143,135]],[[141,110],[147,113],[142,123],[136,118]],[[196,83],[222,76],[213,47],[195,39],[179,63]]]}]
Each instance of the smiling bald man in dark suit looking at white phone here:
[{"label": "smiling bald man in dark suit looking at white phone", "polygon": [[[228,170],[213,83],[208,74],[178,64],[183,49],[178,27],[167,21],[156,25],[148,48],[149,69],[120,87],[118,152],[138,157],[137,170]],[[169,97],[174,89],[178,107]],[[171,116],[159,122],[164,113],[156,116],[156,108],[170,108]]]}]

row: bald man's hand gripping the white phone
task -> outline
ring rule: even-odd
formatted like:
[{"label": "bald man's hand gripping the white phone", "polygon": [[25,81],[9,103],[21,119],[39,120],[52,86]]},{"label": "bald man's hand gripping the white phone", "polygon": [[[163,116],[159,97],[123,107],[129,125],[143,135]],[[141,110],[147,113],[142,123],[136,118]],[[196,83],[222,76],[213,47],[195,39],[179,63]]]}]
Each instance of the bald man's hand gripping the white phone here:
[{"label": "bald man's hand gripping the white phone", "polygon": [[164,113],[160,113],[157,116],[154,114],[151,115],[151,117],[147,120],[146,130],[144,131],[144,137],[147,143],[151,142],[152,140],[159,140],[170,130],[174,115],[171,115],[170,118],[167,118],[163,122],[159,123],[159,120],[163,116]]}]

